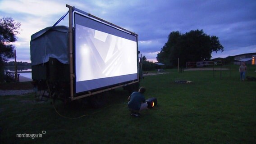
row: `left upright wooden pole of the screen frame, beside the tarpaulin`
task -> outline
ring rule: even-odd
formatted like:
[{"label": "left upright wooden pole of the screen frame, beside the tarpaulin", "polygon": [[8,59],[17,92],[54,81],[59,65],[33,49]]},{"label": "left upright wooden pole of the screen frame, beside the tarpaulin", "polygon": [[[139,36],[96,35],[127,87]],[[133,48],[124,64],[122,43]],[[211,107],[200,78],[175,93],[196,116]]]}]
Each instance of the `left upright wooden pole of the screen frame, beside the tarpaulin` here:
[{"label": "left upright wooden pole of the screen frame, beside the tarpaulin", "polygon": [[71,100],[74,97],[74,89],[73,89],[73,7],[66,4],[66,7],[69,8],[69,71],[70,71],[70,97]]}]

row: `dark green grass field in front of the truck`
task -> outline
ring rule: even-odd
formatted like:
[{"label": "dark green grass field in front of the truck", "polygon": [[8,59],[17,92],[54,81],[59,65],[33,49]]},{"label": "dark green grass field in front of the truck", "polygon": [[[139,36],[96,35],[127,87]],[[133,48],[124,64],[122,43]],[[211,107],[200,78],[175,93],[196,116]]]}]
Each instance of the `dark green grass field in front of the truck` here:
[{"label": "dark green grass field in front of the truck", "polygon": [[[132,117],[128,92],[107,95],[104,108],[39,101],[34,94],[0,96],[1,144],[255,144],[256,81],[240,81],[239,66],[222,71],[166,70],[145,76],[146,98],[156,97],[155,108]],[[247,76],[256,77],[251,66]],[[189,80],[190,84],[174,81]],[[17,134],[41,138],[16,138]]]}]

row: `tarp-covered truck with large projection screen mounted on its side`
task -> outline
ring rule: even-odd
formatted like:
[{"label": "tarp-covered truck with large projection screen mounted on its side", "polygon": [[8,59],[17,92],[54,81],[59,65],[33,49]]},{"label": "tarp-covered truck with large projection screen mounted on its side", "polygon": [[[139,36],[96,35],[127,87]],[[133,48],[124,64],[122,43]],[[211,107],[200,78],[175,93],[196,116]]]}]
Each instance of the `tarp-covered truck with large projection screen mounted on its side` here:
[{"label": "tarp-covered truck with large projection screen mounted on its side", "polygon": [[69,26],[46,27],[31,36],[32,84],[51,98],[70,102],[142,79],[138,35],[74,6]]}]

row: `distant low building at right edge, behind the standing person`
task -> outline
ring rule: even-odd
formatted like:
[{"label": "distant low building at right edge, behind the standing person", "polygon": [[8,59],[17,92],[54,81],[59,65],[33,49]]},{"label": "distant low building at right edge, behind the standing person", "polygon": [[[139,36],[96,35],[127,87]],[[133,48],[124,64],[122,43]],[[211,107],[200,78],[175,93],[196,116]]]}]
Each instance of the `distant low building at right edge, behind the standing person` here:
[{"label": "distant low building at right edge, behind the standing person", "polygon": [[256,64],[256,53],[248,53],[248,54],[239,54],[234,55],[234,64],[241,65],[242,62],[246,64],[255,65]]}]

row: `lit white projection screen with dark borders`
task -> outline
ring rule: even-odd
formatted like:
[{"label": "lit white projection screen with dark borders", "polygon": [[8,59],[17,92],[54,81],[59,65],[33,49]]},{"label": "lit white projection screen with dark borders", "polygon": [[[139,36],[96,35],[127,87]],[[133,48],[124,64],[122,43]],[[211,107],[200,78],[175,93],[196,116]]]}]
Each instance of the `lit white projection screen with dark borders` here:
[{"label": "lit white projection screen with dark borders", "polygon": [[137,37],[74,13],[75,93],[138,79]]}]

